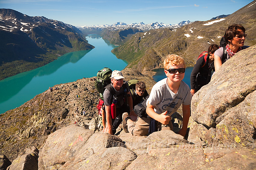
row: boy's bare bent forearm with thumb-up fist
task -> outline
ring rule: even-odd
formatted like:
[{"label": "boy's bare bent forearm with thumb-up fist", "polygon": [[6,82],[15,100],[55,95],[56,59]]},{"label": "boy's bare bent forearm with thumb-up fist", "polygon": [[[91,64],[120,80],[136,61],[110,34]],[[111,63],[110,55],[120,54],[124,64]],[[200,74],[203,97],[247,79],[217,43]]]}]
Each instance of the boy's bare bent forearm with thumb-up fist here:
[{"label": "boy's bare bent forearm with thumb-up fist", "polygon": [[171,120],[171,117],[166,115],[167,111],[159,115],[154,111],[154,109],[155,109],[155,106],[148,104],[146,109],[147,114],[151,118],[155,119],[156,121],[159,121],[161,124],[168,124],[169,121]]}]

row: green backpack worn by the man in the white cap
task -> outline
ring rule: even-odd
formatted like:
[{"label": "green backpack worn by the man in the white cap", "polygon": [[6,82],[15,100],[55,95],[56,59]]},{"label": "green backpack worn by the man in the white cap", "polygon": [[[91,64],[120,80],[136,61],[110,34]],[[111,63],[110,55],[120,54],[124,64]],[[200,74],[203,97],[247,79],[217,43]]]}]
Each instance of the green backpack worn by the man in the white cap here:
[{"label": "green backpack worn by the man in the white cap", "polygon": [[95,88],[100,93],[101,100],[103,100],[103,88],[111,83],[111,74],[112,70],[108,67],[104,67],[103,69],[99,70],[97,73],[97,78],[95,80]]}]

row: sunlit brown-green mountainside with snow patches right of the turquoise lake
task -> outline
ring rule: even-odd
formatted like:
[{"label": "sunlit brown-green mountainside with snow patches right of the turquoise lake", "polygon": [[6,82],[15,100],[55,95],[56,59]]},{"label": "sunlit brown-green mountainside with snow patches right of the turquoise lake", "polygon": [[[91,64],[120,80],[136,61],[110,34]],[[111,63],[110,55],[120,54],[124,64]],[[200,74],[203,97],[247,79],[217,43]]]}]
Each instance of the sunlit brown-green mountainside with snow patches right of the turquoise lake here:
[{"label": "sunlit brown-green mountainside with snow patches right of the turquoise lake", "polygon": [[228,25],[242,24],[246,29],[245,45],[255,45],[256,1],[253,1],[225,17],[209,21],[196,21],[179,29],[165,28],[136,33],[129,41],[112,50],[120,59],[128,61],[128,68],[143,73],[162,67],[167,54],[177,54],[186,59],[186,64],[193,66],[198,55],[211,44],[219,44]]}]

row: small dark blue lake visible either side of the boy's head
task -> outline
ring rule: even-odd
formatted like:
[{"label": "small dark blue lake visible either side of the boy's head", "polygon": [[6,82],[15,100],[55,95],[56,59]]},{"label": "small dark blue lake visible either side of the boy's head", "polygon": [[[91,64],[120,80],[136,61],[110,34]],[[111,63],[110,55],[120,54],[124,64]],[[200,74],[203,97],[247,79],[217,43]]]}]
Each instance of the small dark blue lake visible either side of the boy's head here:
[{"label": "small dark blue lake visible either side of the boy's head", "polygon": [[[192,70],[193,70],[193,67],[186,67],[185,76],[183,79],[183,82],[185,82],[187,85],[189,85],[189,88],[190,88],[190,74],[191,74]],[[156,72],[156,74],[153,76],[153,79],[156,82],[159,82],[160,80],[166,78],[166,75],[164,73],[164,68],[156,68],[152,71]]]}]

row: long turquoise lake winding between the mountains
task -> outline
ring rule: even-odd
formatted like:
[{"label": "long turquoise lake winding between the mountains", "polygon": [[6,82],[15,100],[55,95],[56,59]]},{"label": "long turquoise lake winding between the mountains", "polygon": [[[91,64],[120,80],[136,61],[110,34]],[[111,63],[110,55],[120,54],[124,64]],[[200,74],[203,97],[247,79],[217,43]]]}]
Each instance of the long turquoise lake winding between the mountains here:
[{"label": "long turquoise lake winding between the mountains", "polygon": [[23,103],[57,84],[96,76],[98,70],[109,67],[123,70],[126,61],[117,59],[111,50],[117,46],[98,35],[86,37],[95,46],[86,51],[70,52],[43,67],[17,74],[0,81],[0,114]]}]

